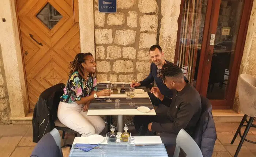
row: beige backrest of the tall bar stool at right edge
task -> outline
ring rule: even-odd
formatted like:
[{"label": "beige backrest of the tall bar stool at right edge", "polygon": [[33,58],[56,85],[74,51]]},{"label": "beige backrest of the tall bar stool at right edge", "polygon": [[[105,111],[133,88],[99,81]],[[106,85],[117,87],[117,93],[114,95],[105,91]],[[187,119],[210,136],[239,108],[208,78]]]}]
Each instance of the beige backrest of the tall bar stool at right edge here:
[{"label": "beige backrest of the tall bar stool at right edge", "polygon": [[256,117],[256,77],[240,74],[238,93],[241,111],[248,116]]}]

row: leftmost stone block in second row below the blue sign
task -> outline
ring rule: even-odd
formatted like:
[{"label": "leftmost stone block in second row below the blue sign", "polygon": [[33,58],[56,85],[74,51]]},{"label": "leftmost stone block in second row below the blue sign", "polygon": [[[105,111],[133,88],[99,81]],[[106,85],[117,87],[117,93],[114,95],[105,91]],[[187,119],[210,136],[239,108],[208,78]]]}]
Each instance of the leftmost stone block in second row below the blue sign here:
[{"label": "leftmost stone block in second row below the blue sign", "polygon": [[112,29],[95,29],[95,43],[109,44],[113,42]]}]

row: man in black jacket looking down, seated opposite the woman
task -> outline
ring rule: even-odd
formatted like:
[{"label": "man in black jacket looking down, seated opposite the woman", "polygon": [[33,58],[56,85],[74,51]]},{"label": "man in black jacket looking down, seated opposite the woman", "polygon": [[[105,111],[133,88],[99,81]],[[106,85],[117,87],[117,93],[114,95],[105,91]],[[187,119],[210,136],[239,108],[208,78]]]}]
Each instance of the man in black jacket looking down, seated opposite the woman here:
[{"label": "man in black jacket looking down, seated opposite the woman", "polygon": [[[173,64],[164,64],[160,72],[163,82],[169,89],[174,89],[172,101],[162,95],[158,88],[153,87],[151,92],[167,107],[161,105],[156,112],[157,116],[142,116],[142,130],[162,132],[158,134],[165,144],[175,144],[178,132],[181,129],[192,135],[201,115],[201,99],[199,93],[188,80],[184,80],[182,70]],[[170,103],[172,102],[172,103]],[[148,124],[149,123],[149,124]],[[147,128],[146,128],[146,124]],[[146,133],[147,131],[142,131]]]}]

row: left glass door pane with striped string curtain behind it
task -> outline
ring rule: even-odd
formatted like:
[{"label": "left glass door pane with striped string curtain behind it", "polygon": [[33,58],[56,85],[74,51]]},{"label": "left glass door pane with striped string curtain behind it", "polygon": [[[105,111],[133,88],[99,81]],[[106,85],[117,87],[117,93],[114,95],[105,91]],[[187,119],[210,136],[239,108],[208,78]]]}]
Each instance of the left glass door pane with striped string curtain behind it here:
[{"label": "left glass door pane with striped string curtain behind it", "polygon": [[184,0],[180,28],[178,66],[196,86],[203,40],[207,0]]}]

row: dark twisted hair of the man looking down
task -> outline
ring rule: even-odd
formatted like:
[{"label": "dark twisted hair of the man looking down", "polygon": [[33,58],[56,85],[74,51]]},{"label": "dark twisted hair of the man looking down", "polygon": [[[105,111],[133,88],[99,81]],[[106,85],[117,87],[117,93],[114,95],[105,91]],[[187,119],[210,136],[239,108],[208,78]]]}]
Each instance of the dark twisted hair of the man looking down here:
[{"label": "dark twisted hair of the man looking down", "polygon": [[161,69],[162,79],[166,81],[166,77],[172,77],[174,79],[184,78],[184,74],[180,67],[175,64],[166,63]]}]

